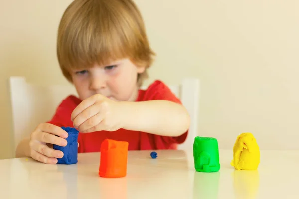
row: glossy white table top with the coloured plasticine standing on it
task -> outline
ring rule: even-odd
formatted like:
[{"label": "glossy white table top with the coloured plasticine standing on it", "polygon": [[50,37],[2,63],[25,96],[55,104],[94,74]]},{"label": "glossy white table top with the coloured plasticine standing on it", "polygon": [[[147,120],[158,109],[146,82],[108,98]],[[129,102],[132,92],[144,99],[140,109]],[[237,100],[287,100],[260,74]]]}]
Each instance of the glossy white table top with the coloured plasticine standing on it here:
[{"label": "glossy white table top with the coloured plasticine standing on it", "polygon": [[0,160],[0,199],[299,199],[299,151],[261,151],[257,171],[236,171],[232,150],[220,150],[216,173],[195,172],[192,151],[150,152],[129,151],[118,179],[98,176],[100,153],[75,165]]}]

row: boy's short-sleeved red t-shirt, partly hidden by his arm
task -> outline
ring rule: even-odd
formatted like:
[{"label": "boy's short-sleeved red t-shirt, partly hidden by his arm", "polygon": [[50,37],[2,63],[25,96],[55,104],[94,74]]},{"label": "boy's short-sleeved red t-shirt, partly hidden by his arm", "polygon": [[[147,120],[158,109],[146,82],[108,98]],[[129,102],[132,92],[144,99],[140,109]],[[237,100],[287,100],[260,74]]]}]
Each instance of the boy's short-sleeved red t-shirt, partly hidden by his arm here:
[{"label": "boy's short-sleeved red t-shirt, partly hidden by his arm", "polygon": [[[171,90],[163,82],[158,80],[151,84],[147,90],[139,90],[136,101],[148,100],[169,100],[181,104],[181,101],[171,92]],[[73,127],[71,114],[80,102],[81,100],[77,97],[72,95],[68,96],[58,106],[52,120],[47,123],[59,127]],[[107,138],[129,142],[128,150],[176,149],[177,144],[185,141],[187,134],[188,131],[178,137],[168,137],[125,129],[119,129],[113,132],[98,131],[92,133],[79,133],[78,152],[99,152],[102,141]]]}]

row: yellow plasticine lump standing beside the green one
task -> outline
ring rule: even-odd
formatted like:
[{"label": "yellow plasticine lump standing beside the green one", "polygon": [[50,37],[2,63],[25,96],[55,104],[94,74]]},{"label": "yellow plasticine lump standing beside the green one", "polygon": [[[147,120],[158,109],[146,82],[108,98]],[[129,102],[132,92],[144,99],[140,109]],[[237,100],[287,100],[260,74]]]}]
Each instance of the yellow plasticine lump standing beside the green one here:
[{"label": "yellow plasticine lump standing beside the green one", "polygon": [[253,134],[242,133],[233,148],[231,165],[237,170],[256,170],[260,164],[260,148]]}]

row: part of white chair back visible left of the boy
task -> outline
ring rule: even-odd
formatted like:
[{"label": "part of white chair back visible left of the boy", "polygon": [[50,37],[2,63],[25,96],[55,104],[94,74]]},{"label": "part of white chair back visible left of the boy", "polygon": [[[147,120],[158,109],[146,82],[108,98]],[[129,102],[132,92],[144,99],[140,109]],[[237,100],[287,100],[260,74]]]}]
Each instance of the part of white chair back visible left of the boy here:
[{"label": "part of white chair back visible left of the boy", "polygon": [[26,82],[25,77],[9,78],[12,109],[13,154],[17,144],[37,127],[52,118],[61,100],[76,95],[72,85],[40,86]]}]

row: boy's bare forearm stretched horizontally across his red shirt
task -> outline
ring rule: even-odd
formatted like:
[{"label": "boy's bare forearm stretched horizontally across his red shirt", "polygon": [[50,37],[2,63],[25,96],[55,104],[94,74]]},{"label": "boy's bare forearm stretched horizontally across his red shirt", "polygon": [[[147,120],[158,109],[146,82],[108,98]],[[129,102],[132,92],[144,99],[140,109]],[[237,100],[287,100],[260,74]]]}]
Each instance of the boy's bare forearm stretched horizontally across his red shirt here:
[{"label": "boy's bare forearm stretched horizontally across his red shirt", "polygon": [[178,103],[166,100],[123,102],[124,124],[127,130],[162,136],[180,136],[190,125],[187,110]]}]

